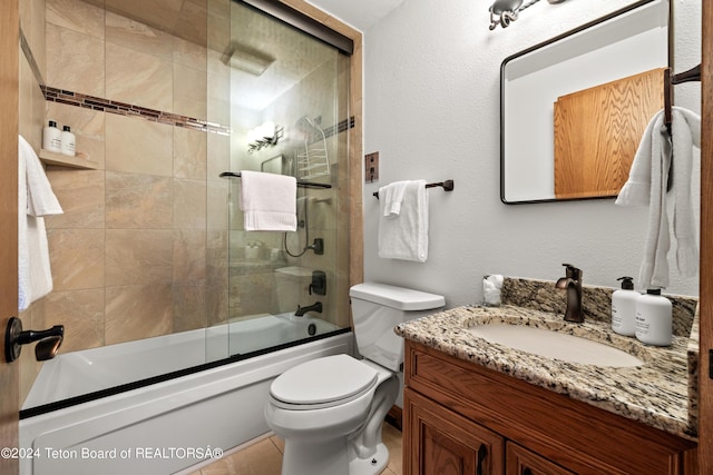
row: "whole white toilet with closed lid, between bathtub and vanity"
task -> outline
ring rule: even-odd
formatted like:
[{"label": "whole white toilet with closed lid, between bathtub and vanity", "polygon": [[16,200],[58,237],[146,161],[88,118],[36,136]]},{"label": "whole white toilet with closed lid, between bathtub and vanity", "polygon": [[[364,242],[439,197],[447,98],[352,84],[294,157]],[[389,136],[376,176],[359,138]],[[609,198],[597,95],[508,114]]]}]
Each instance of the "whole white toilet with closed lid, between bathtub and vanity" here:
[{"label": "whole white toilet with closed lid, between bathtub and vanity", "polygon": [[265,418],[285,442],[282,475],[375,475],[387,466],[381,425],[399,396],[403,363],[393,327],[446,304],[440,295],[383,284],[359,284],[349,295],[364,359],[313,359],[270,387]]}]

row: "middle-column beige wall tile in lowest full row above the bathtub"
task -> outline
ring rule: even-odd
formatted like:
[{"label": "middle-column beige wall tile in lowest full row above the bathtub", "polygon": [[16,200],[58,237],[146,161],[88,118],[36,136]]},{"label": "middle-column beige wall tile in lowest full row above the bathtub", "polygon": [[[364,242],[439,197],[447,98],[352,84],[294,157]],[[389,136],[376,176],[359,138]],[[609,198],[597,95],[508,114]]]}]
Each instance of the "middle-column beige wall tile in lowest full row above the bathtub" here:
[{"label": "middle-column beige wall tile in lowest full row above the bathtub", "polygon": [[172,331],[172,284],[107,287],[106,299],[107,345]]}]

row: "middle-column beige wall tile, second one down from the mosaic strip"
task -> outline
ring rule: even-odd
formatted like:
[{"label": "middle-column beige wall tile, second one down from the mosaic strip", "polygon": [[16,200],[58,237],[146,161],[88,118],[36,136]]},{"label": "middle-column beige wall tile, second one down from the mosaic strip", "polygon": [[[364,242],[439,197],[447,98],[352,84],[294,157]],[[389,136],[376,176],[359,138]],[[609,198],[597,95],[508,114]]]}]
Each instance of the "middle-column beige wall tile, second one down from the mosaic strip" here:
[{"label": "middle-column beige wall tile, second one down from the mosaic strip", "polygon": [[156,175],[106,172],[107,228],[169,229],[173,181]]}]

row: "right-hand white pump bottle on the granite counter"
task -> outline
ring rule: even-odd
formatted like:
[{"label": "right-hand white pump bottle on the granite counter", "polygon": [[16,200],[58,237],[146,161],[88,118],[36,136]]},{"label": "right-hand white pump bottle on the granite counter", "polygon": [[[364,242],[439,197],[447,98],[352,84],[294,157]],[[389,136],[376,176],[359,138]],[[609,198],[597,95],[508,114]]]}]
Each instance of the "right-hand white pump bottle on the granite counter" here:
[{"label": "right-hand white pump bottle on the granite counter", "polygon": [[672,340],[673,320],[671,300],[661,289],[649,288],[636,299],[636,338],[647,345],[668,346]]}]

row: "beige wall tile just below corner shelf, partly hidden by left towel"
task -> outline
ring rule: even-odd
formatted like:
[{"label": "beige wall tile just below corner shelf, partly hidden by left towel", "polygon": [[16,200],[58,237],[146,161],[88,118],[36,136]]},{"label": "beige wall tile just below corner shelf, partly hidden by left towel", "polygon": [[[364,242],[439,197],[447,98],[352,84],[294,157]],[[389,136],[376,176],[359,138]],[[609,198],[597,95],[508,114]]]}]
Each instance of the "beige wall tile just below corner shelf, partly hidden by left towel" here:
[{"label": "beige wall tile just below corner shelf, partly hidden by left towel", "polygon": [[48,167],[47,177],[65,212],[48,216],[48,229],[104,229],[104,171]]}]

